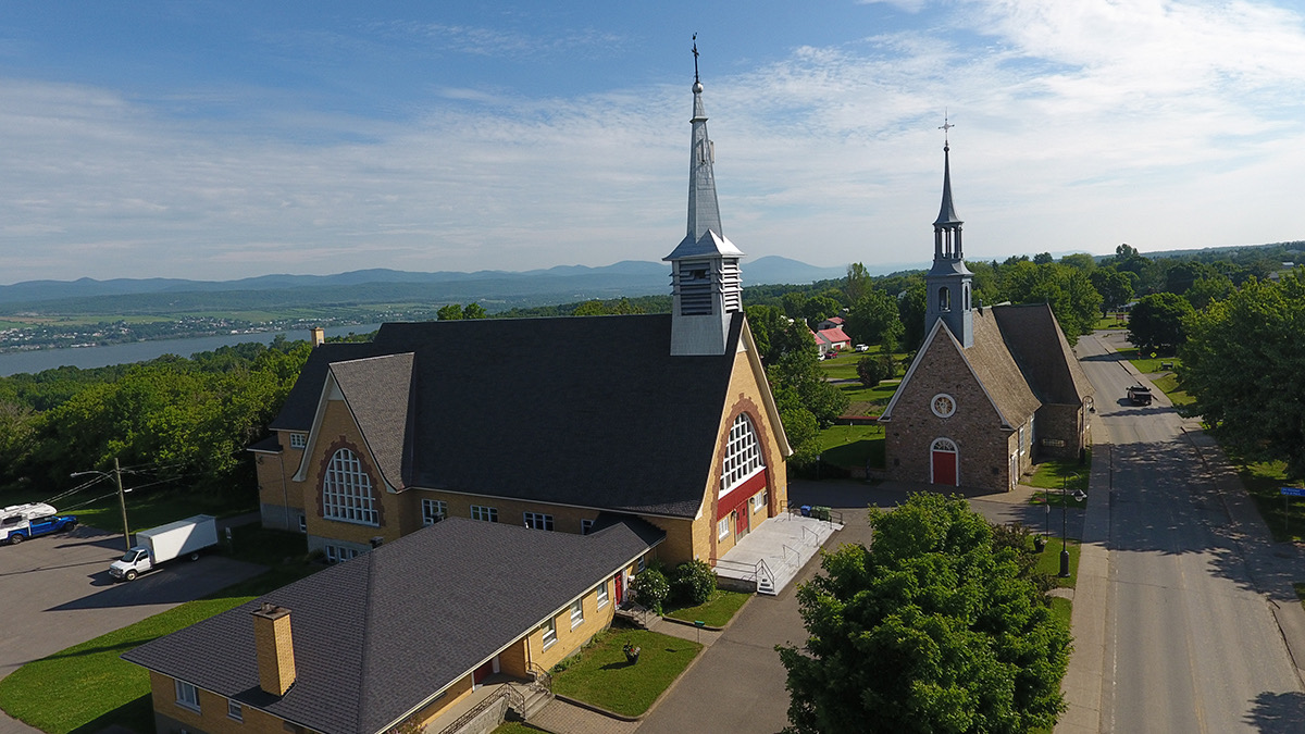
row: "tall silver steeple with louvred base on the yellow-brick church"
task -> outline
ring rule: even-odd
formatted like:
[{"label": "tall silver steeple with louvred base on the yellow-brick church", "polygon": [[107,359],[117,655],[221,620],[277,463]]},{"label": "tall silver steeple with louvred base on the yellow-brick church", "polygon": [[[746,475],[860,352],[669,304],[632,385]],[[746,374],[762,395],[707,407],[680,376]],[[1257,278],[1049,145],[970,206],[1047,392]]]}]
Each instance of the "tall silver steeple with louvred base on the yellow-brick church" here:
[{"label": "tall silver steeple with louvred base on the yellow-brick church", "polygon": [[675,302],[671,315],[671,354],[724,354],[731,315],[743,311],[743,252],[720,231],[715,158],[707,137],[707,114],[702,107],[698,78],[698,44],[693,44],[693,125],[689,144],[689,227],[671,255],[671,285]]}]

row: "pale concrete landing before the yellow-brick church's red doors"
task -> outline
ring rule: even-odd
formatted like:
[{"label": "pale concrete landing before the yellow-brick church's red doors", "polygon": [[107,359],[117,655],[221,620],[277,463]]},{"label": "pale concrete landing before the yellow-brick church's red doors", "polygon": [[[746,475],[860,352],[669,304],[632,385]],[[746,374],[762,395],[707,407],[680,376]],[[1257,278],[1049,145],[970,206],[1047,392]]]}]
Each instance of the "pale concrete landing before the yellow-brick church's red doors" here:
[{"label": "pale concrete landing before the yellow-brick church's red doors", "polygon": [[716,559],[716,577],[726,588],[779,594],[842,529],[838,522],[795,513],[771,517]]}]

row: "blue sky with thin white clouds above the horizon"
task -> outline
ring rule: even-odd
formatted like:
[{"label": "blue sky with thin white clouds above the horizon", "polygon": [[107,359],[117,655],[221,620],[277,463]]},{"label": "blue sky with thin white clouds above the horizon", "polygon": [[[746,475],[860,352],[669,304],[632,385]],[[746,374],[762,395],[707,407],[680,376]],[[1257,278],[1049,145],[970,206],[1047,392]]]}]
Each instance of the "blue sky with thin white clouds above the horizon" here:
[{"label": "blue sky with thin white clouds above the horizon", "polygon": [[1298,3],[8,0],[0,283],[659,260],[693,33],[750,257],[1305,239]]}]

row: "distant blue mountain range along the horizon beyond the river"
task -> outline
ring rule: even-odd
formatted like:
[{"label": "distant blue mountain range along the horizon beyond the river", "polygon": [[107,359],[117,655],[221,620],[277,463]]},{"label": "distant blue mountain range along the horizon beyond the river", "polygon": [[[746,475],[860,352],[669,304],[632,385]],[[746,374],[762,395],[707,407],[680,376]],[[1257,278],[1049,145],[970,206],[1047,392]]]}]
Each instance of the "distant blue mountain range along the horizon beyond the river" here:
[{"label": "distant blue mountain range along the horizon beyond the river", "polygon": [[[787,257],[767,256],[744,264],[748,285],[809,283],[842,278],[846,268],[817,268]],[[625,260],[602,268],[559,265],[526,270],[475,273],[352,270],[335,276],[260,276],[238,281],[177,278],[115,278],[97,281],[26,281],[0,286],[0,311],[110,312],[132,310],[133,303],[177,310],[228,306],[231,296],[258,307],[287,303],[341,303],[377,296],[428,300],[500,300],[508,306],[668,294],[671,269],[664,263]]]}]

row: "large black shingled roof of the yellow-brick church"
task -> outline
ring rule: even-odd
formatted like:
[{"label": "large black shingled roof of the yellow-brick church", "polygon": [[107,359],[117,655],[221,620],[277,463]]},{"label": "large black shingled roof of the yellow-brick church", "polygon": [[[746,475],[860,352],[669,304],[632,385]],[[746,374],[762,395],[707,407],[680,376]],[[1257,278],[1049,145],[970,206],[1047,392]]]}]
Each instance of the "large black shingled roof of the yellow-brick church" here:
[{"label": "large black shingled roof of the yellow-brick church", "polygon": [[[743,325],[724,354],[676,357],[668,313],[384,324],[315,349],[273,426],[308,431],[329,371],[394,487],[694,517]],[[402,354],[410,374],[372,359]],[[405,421],[382,380],[410,383]]]}]

